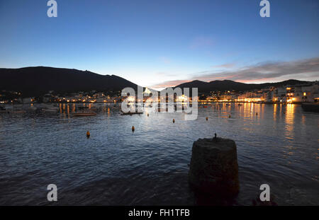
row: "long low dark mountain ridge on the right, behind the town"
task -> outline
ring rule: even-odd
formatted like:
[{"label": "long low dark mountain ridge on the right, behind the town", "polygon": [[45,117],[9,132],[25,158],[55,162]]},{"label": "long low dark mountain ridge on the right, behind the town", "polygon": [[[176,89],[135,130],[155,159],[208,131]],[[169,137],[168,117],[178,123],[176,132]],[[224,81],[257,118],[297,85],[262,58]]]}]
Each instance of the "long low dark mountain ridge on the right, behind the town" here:
[{"label": "long low dark mountain ridge on the right, behind the town", "polygon": [[309,83],[308,81],[298,81],[295,79],[289,79],[287,81],[282,81],[278,83],[261,83],[261,84],[252,84],[252,83],[238,83],[231,80],[216,80],[210,82],[194,80],[187,83],[181,83],[174,88],[198,88],[198,93],[209,93],[211,91],[251,91],[254,89],[266,88],[269,86],[286,86],[286,85],[296,85],[301,83]]}]

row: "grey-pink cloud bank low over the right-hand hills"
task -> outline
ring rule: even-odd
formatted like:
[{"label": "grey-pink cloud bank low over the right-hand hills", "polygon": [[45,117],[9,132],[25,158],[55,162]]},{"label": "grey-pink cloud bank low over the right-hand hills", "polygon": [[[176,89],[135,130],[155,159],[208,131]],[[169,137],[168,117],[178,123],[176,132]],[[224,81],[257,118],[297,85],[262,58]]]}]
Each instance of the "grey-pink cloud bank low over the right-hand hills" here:
[{"label": "grey-pink cloud bank low over the right-hand hills", "polygon": [[[232,64],[222,64],[212,67],[233,67]],[[245,66],[234,71],[201,71],[191,79],[164,81],[158,83],[155,88],[177,86],[180,83],[193,81],[233,80],[240,82],[281,81],[286,79],[319,79],[319,57],[312,59],[300,59],[291,62],[263,62],[251,66]]]}]

